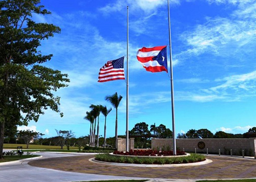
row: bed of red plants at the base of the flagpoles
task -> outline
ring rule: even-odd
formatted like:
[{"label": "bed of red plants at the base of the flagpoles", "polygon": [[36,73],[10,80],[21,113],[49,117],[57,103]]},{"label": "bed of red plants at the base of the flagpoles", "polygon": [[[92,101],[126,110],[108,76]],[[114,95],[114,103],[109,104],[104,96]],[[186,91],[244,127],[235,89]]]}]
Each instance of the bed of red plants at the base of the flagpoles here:
[{"label": "bed of red plants at the base of the flagpoles", "polygon": [[[157,150],[130,150],[129,152],[114,151],[116,155],[133,155],[133,156],[172,156],[172,151],[157,151]],[[177,155],[186,155],[184,151],[176,151]]]}]

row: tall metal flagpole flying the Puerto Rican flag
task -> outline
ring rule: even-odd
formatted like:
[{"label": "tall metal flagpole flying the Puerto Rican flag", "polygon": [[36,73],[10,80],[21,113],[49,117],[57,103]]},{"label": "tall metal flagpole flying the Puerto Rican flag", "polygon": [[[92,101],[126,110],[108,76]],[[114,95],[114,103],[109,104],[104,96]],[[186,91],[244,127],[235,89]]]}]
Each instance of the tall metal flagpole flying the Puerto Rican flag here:
[{"label": "tall metal flagpole flying the Puerto Rican flag", "polygon": [[170,44],[170,71],[171,71],[171,98],[172,98],[172,142],[173,152],[176,155],[176,135],[175,135],[175,117],[174,117],[174,79],[172,74],[172,42],[171,42],[171,20],[170,20],[170,3],[168,0],[168,22],[169,22],[169,44]]}]

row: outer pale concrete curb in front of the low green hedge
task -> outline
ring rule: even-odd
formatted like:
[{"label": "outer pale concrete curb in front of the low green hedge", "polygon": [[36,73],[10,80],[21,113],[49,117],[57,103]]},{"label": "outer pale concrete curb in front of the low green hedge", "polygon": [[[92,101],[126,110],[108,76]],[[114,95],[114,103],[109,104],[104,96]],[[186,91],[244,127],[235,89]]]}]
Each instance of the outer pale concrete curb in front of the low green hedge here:
[{"label": "outer pale concrete curb in front of the low green hedge", "polygon": [[212,163],[212,160],[210,160],[210,159],[206,159],[203,162],[187,163],[187,164],[127,164],[127,163],[109,163],[109,162],[103,162],[103,161],[95,160],[95,158],[90,158],[89,161],[93,162],[93,163],[109,164],[109,165],[113,165],[113,166],[133,166],[133,167],[184,167],[184,166],[200,166],[200,165]]}]

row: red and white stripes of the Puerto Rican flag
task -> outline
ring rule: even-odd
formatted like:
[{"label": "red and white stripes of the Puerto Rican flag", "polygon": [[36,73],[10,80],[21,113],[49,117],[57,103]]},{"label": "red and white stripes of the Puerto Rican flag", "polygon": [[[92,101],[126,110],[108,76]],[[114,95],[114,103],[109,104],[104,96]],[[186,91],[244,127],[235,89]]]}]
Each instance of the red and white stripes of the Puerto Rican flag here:
[{"label": "red and white stripes of the Puerto Rican flag", "polygon": [[163,65],[160,65],[157,60],[153,60],[154,57],[158,56],[159,52],[162,51],[162,49],[164,48],[166,48],[166,46],[156,46],[152,48],[143,47],[138,50],[137,59],[139,62],[141,62],[146,71],[168,72],[167,69],[163,67]]}]

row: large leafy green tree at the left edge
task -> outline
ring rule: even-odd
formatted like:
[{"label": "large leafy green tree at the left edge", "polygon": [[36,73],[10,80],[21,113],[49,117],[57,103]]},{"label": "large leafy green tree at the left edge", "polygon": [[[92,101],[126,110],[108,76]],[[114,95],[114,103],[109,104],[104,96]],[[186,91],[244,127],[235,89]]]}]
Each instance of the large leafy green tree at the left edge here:
[{"label": "large leafy green tree at the left edge", "polygon": [[0,159],[5,123],[27,125],[38,121],[44,109],[60,112],[60,98],[52,91],[69,81],[60,71],[40,65],[52,57],[41,54],[40,42],[60,33],[60,28],[36,23],[34,14],[51,13],[40,0],[0,1]]}]

